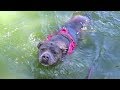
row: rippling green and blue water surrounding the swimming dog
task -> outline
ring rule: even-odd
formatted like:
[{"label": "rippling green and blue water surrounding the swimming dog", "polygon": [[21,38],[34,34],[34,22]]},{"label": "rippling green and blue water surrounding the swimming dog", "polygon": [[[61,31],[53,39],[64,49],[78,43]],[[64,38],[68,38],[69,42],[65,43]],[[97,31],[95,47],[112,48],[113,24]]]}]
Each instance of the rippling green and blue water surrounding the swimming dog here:
[{"label": "rippling green and blue water surrounding the swimming dog", "polygon": [[[91,24],[75,52],[53,67],[38,63],[37,44],[73,15]],[[0,78],[120,78],[120,12],[0,12]]]}]

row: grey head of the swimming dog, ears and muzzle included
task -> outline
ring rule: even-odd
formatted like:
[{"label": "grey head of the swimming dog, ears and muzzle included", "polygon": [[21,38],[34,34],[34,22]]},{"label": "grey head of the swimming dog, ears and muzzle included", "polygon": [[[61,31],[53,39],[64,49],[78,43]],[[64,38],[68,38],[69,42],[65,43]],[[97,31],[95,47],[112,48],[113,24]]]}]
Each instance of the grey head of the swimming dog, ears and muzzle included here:
[{"label": "grey head of the swimming dog, ears and muzzle included", "polygon": [[55,42],[44,42],[38,44],[39,62],[44,66],[57,63],[63,56],[63,50]]}]

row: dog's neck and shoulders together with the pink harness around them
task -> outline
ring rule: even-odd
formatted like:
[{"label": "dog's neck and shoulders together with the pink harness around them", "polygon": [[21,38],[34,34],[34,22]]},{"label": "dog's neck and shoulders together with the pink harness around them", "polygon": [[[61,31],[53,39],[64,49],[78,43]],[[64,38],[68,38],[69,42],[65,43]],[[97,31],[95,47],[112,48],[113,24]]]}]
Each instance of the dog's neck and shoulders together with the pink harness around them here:
[{"label": "dog's neck and shoulders together with the pink harness around them", "polygon": [[71,31],[73,31],[73,33],[70,33],[69,30],[66,29],[66,27],[63,27],[61,30],[59,30],[59,32],[56,35],[49,35],[47,37],[47,41],[56,42],[57,46],[59,46],[62,50],[67,50],[67,53],[71,54],[73,53],[73,50],[76,47],[76,33],[74,30]]}]

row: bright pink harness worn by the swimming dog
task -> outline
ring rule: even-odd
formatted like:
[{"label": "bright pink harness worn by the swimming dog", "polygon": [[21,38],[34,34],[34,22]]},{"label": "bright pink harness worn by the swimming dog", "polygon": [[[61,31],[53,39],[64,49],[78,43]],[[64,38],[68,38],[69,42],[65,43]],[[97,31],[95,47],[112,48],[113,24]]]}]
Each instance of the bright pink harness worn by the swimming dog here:
[{"label": "bright pink harness worn by the swimming dog", "polygon": [[[70,33],[68,32],[68,30],[63,27],[57,34],[62,34],[62,35],[64,35],[64,36],[67,36],[67,37],[70,39],[70,45],[69,45],[69,49],[68,49],[68,52],[67,52],[67,53],[68,53],[69,55],[72,54],[73,51],[74,51],[74,49],[75,49],[75,47],[76,47],[76,43],[75,43],[73,37],[72,37],[72,36],[70,35]],[[53,35],[48,35],[47,41],[51,40],[52,36],[53,36]]]}]

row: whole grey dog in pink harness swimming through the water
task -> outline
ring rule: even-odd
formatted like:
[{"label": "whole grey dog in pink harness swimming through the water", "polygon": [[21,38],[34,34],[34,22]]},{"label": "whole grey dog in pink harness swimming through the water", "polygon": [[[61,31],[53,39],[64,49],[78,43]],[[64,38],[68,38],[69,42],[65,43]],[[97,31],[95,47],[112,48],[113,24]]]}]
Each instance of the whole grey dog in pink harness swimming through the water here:
[{"label": "whole grey dog in pink harness swimming through the water", "polygon": [[54,65],[67,54],[72,54],[80,39],[82,28],[88,24],[89,19],[85,16],[72,17],[58,32],[38,44],[39,62],[45,66]]}]

